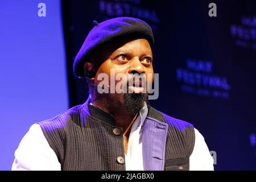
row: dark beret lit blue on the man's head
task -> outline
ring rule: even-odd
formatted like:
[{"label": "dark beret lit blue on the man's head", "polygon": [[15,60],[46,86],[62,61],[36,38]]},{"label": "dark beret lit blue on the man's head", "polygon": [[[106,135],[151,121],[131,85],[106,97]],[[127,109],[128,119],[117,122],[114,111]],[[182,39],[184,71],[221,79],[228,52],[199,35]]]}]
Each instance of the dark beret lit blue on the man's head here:
[{"label": "dark beret lit blue on the man's head", "polygon": [[148,40],[150,46],[154,44],[151,27],[141,19],[131,17],[118,17],[98,23],[93,21],[94,27],[86,36],[80,51],[77,53],[73,71],[77,77],[84,77],[84,63],[90,59],[92,53],[117,38],[128,35]]}]

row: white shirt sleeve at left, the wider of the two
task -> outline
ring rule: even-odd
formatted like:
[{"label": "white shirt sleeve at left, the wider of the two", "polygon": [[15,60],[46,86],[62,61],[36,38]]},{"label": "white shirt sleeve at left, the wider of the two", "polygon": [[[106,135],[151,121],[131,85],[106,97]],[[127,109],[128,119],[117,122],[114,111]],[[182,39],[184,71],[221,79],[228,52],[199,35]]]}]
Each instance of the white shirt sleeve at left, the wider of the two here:
[{"label": "white shirt sleeve at left, the wider of the two", "polygon": [[12,171],[36,170],[36,171],[60,171],[61,166],[55,152],[49,146],[43,131],[38,124],[30,127],[30,130],[22,138],[16,149]]}]

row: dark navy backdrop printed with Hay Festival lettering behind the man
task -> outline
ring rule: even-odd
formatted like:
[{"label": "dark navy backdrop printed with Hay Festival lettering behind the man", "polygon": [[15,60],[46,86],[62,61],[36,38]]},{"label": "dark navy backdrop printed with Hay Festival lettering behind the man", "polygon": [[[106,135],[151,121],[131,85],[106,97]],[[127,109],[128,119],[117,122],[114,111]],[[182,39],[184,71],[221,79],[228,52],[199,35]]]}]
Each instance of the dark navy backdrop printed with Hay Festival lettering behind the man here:
[{"label": "dark navy backdrop printed with Hay Festival lettering behind the man", "polygon": [[217,16],[209,16],[211,2],[63,1],[71,106],[88,96],[72,64],[93,20],[141,18],[155,35],[160,84],[151,105],[193,123],[215,169],[256,169],[256,2],[214,1]]}]

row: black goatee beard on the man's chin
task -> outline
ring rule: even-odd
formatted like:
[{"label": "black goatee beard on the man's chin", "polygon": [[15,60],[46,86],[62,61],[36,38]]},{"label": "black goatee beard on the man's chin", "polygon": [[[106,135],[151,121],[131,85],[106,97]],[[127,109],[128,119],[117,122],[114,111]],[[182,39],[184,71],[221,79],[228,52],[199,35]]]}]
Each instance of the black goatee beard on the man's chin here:
[{"label": "black goatee beard on the man's chin", "polygon": [[146,93],[125,93],[123,95],[123,100],[125,101],[125,107],[129,114],[137,114],[146,101]]}]

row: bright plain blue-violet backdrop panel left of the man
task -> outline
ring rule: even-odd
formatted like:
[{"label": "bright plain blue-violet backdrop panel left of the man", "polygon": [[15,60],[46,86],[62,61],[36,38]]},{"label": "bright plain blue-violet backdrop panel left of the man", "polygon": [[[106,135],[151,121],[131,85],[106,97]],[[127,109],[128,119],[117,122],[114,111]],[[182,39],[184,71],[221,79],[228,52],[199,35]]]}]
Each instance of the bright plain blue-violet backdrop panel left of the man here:
[{"label": "bright plain blue-violet backdrop panel left of the man", "polygon": [[68,109],[60,1],[0,1],[0,24],[0,170],[10,170],[32,123]]}]

